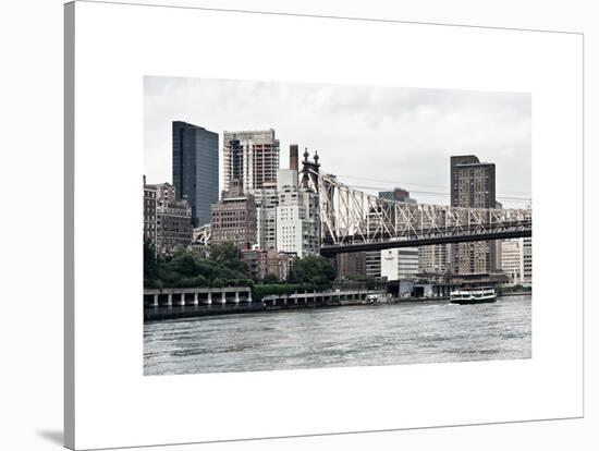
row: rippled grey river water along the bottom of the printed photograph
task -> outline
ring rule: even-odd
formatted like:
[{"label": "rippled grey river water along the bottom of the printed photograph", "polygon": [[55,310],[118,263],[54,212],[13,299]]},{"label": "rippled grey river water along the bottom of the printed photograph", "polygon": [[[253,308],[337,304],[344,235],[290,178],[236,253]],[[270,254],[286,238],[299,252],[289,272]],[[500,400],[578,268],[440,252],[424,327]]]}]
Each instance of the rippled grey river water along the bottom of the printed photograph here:
[{"label": "rippled grey river water along the bottom of the printed photograph", "polygon": [[530,304],[528,295],[147,322],[144,374],[529,358]]}]

